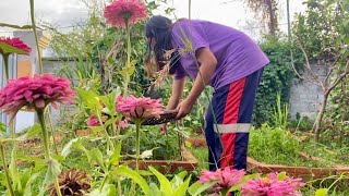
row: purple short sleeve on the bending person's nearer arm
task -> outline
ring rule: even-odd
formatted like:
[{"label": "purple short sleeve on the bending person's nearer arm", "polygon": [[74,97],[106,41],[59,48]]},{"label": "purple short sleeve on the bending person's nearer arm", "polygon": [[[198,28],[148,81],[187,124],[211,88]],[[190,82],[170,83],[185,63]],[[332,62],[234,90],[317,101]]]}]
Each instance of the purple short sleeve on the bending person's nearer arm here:
[{"label": "purple short sleeve on the bending person's nearer arm", "polygon": [[190,41],[195,52],[200,48],[209,48],[206,33],[200,21],[178,21],[172,28],[172,39],[173,47],[181,49],[188,49],[188,47],[185,47],[186,40]]}]

